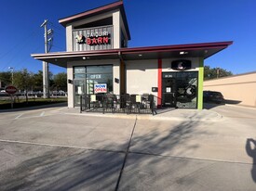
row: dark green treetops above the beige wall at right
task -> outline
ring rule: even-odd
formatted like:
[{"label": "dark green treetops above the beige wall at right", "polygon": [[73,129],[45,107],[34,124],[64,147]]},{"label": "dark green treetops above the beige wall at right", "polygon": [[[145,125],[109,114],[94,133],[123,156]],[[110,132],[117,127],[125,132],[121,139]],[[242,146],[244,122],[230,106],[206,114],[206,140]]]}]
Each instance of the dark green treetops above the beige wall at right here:
[{"label": "dark green treetops above the beige wall at right", "polygon": [[222,78],[222,77],[231,76],[231,75],[233,75],[231,71],[227,71],[221,68],[211,69],[209,66],[205,66],[204,80]]}]

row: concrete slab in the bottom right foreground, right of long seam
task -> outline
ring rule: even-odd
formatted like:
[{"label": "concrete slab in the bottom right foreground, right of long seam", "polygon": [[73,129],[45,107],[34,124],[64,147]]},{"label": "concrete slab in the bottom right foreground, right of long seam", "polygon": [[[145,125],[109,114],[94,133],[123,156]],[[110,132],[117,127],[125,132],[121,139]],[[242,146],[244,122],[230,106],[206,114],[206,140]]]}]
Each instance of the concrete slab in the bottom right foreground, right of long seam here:
[{"label": "concrete slab in the bottom right foreground, right of long seam", "polygon": [[119,190],[256,190],[251,164],[128,155]]}]

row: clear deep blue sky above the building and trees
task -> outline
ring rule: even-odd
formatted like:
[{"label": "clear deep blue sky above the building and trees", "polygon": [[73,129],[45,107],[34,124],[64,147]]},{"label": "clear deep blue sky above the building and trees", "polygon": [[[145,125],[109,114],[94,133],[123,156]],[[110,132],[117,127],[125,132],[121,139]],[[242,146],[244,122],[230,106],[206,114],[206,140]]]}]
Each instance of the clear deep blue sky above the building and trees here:
[{"label": "clear deep blue sky above the building and trees", "polygon": [[[0,71],[42,70],[32,53],[44,53],[48,19],[54,30],[50,52],[65,51],[59,19],[116,0],[0,0]],[[256,0],[124,0],[131,40],[128,47],[234,41],[205,60],[234,74],[256,71]],[[49,65],[54,74],[66,69]]]}]

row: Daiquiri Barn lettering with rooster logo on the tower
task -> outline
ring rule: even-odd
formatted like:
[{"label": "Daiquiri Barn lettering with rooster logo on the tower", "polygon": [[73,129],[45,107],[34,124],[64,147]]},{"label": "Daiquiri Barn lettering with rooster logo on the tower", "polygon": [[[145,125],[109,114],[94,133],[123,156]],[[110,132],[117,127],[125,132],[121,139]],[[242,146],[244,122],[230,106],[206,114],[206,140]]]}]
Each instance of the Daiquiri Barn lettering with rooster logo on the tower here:
[{"label": "Daiquiri Barn lettering with rooster logo on the tower", "polygon": [[75,36],[78,44],[105,45],[110,43],[109,32],[90,32],[86,36],[78,34]]}]

